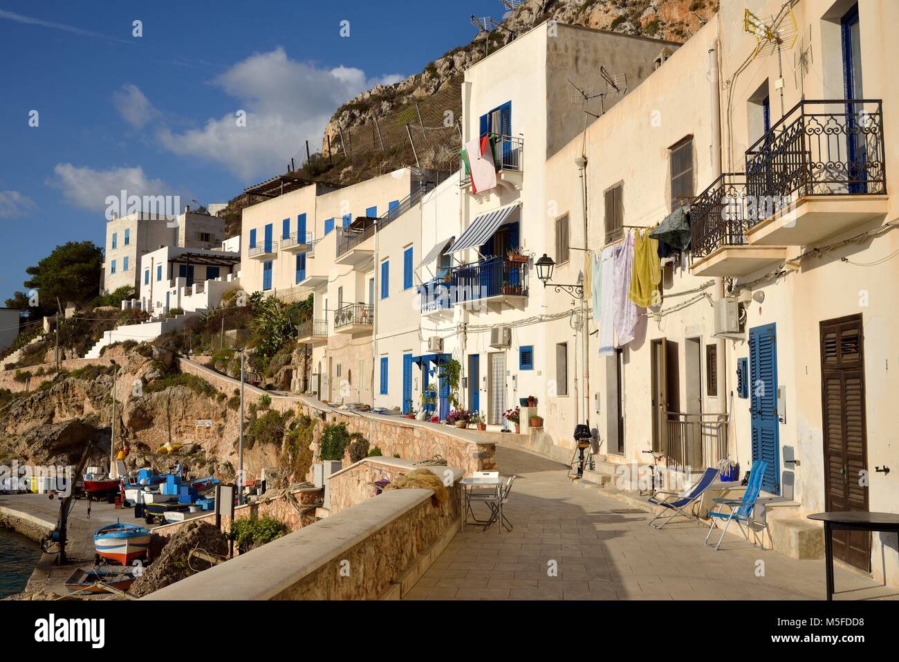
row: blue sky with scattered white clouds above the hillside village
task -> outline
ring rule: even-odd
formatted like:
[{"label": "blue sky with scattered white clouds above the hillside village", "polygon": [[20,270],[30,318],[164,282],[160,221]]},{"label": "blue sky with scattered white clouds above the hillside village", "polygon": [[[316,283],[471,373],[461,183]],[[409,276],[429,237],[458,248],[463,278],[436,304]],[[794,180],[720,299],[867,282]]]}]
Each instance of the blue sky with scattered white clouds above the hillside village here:
[{"label": "blue sky with scattered white clouds above the hillside village", "polygon": [[227,201],[319,148],[340,103],[471,40],[470,14],[505,11],[410,5],[0,0],[0,305],[54,246],[102,245],[106,195]]}]

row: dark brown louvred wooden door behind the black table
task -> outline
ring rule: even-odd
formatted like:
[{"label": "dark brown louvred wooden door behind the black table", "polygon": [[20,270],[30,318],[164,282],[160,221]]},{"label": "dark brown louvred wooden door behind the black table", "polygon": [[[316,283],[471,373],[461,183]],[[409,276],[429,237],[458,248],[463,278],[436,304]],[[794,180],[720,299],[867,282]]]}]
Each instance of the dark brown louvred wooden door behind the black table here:
[{"label": "dark brown louvred wooden door behind the black table", "polygon": [[[824,497],[828,512],[868,511],[863,340],[861,315],[821,322]],[[833,555],[870,571],[871,534],[834,531]]]}]

